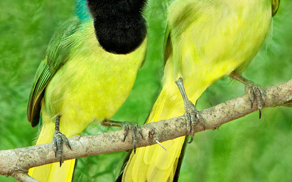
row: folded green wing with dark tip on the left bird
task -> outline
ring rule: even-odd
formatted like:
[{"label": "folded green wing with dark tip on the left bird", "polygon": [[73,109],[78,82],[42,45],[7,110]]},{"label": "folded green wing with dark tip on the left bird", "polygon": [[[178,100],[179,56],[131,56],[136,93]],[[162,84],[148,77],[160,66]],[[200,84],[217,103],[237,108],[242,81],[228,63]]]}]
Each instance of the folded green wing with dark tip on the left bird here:
[{"label": "folded green wing with dark tip on the left bird", "polygon": [[44,97],[45,88],[58,69],[67,61],[72,43],[69,36],[77,31],[81,22],[77,17],[66,21],[53,35],[46,57],[41,61],[36,71],[30,90],[27,105],[27,119],[32,127],[39,123],[41,100]]}]

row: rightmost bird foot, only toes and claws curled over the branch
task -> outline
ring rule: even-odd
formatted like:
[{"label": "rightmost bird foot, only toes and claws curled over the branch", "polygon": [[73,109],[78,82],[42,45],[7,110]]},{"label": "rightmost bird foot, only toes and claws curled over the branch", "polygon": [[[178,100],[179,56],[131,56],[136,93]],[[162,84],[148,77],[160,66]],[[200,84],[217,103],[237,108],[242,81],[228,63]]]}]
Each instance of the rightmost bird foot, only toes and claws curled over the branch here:
[{"label": "rightmost bird foot, only toes and claws curled over the branch", "polygon": [[257,100],[259,118],[262,117],[262,108],[265,106],[266,94],[262,86],[248,80],[245,85],[245,93],[248,94],[251,101],[251,107],[253,107],[254,100]]}]

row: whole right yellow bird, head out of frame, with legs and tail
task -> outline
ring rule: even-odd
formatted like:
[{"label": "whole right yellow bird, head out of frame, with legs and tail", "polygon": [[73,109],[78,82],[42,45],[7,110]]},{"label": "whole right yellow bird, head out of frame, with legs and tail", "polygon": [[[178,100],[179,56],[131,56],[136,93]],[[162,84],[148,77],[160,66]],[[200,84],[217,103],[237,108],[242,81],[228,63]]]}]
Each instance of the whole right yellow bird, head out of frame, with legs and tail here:
[{"label": "whole right yellow bird, head out of frame, with legs and tail", "polygon": [[[277,0],[174,1],[167,11],[162,91],[146,123],[185,113],[193,135],[194,127],[204,123],[192,102],[223,75],[246,84],[251,102],[255,92],[261,109],[262,88],[237,73],[247,68],[263,45],[278,8]],[[186,137],[179,137],[162,142],[167,151],[158,144],[138,148],[117,181],[177,181],[184,144]]]}]

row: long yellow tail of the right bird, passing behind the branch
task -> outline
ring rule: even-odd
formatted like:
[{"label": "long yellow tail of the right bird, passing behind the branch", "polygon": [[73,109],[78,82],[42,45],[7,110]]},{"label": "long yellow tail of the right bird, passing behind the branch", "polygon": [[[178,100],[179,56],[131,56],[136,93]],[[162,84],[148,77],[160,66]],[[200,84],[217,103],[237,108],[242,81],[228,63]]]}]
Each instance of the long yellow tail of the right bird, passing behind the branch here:
[{"label": "long yellow tail of the right bird, passing behind the branch", "polygon": [[[163,89],[146,123],[183,115],[182,99],[177,102],[181,102],[180,107],[175,104],[176,108],[172,108],[174,104],[169,101],[168,94]],[[135,155],[131,154],[122,181],[172,181],[184,141],[185,137],[179,137],[162,142],[167,151],[158,144],[138,148]]]}]

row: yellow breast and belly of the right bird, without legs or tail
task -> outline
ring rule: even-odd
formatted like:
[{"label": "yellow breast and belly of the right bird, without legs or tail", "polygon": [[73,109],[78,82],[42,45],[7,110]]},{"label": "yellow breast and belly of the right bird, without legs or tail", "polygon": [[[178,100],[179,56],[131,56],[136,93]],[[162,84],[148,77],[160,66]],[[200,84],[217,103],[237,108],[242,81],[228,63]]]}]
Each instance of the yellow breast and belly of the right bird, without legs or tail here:
[{"label": "yellow breast and belly of the right bird, without legs or tail", "polygon": [[270,29],[271,5],[270,0],[177,0],[171,4],[173,79],[182,77],[184,83],[192,80],[208,87],[233,70],[244,70]]}]

